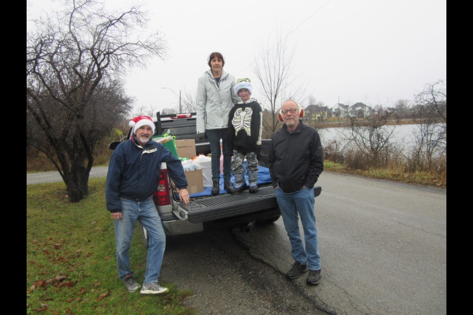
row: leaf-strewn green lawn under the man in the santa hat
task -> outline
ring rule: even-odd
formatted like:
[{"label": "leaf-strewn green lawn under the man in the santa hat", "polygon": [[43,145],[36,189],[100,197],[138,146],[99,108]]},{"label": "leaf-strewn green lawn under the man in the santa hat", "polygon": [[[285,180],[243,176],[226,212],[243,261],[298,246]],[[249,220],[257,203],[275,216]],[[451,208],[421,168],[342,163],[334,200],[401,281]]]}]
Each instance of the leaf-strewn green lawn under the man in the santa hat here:
[{"label": "leaf-strewn green lawn under the man in the santa hat", "polygon": [[[27,314],[196,314],[182,305],[192,292],[166,279],[160,279],[169,287],[165,295],[125,289],[117,275],[115,231],[105,210],[104,187],[105,178],[90,179],[89,196],[72,204],[64,183],[27,186]],[[146,249],[138,230],[130,259],[139,283]]]}]

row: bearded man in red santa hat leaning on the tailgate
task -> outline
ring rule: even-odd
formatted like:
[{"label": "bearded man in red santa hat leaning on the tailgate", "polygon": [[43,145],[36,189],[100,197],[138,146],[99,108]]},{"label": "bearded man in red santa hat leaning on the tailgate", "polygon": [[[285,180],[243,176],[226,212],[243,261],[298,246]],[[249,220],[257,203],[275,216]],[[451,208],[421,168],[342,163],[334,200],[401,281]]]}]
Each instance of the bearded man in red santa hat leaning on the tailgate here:
[{"label": "bearded man in red santa hat leaning on the tailgate", "polygon": [[189,203],[187,180],[181,161],[162,144],[151,140],[155,126],[148,116],[135,117],[130,126],[130,140],[120,143],[110,158],[105,186],[107,210],[115,224],[118,276],[130,292],[140,285],[130,268],[130,243],[138,220],[148,232],[149,248],[141,293],[161,294],[169,291],[158,282],[166,247],[166,235],[153,201],[158,187],[161,163],[168,165],[169,175],[179,189],[179,198]]}]

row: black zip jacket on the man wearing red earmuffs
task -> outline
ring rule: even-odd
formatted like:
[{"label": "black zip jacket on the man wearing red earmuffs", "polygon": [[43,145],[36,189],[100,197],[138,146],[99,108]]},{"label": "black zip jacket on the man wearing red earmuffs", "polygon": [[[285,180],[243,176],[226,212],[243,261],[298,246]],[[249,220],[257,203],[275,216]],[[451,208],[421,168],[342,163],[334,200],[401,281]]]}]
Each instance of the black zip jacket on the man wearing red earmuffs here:
[{"label": "black zip jacket on the man wearing red earmuffs", "polygon": [[324,170],[324,153],[320,137],[314,128],[299,125],[293,132],[286,124],[272,136],[268,154],[272,186],[289,193],[314,187]]}]

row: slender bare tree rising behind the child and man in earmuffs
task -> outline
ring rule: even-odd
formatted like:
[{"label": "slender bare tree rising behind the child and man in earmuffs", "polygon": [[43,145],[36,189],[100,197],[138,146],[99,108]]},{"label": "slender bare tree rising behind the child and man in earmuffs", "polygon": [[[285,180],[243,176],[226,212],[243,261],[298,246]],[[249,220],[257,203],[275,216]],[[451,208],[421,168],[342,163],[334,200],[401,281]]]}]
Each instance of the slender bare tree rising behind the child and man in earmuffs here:
[{"label": "slender bare tree rising behind the child and man in earmuffs", "polygon": [[[261,93],[269,102],[270,118],[265,117],[263,126],[269,136],[274,133],[278,125],[277,114],[282,103],[292,98],[301,103],[300,98],[305,94],[305,86],[294,84],[291,63],[294,49],[288,51],[286,39],[280,33],[273,44],[268,41],[255,56],[253,73],[261,84]],[[304,98],[305,99],[305,98]],[[263,106],[265,107],[265,106]]]}]

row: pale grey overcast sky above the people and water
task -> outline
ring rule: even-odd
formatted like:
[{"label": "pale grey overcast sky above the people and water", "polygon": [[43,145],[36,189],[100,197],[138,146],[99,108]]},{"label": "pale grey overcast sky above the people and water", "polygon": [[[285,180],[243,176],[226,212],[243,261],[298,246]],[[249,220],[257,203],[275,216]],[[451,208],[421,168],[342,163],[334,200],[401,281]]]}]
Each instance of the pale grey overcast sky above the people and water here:
[{"label": "pale grey overcast sky above the people and water", "polygon": [[[51,7],[51,0],[29,3],[27,19]],[[116,9],[134,2],[105,3]],[[253,60],[276,32],[289,34],[288,50],[295,49],[295,84],[306,84],[307,93],[329,107],[338,101],[389,106],[446,79],[446,0],[156,0],[145,7],[150,30],[165,34],[169,57],[127,75],[135,109],[178,105],[169,89],[195,93],[212,51],[225,56],[225,71],[250,78],[253,96],[267,104]]]}]

